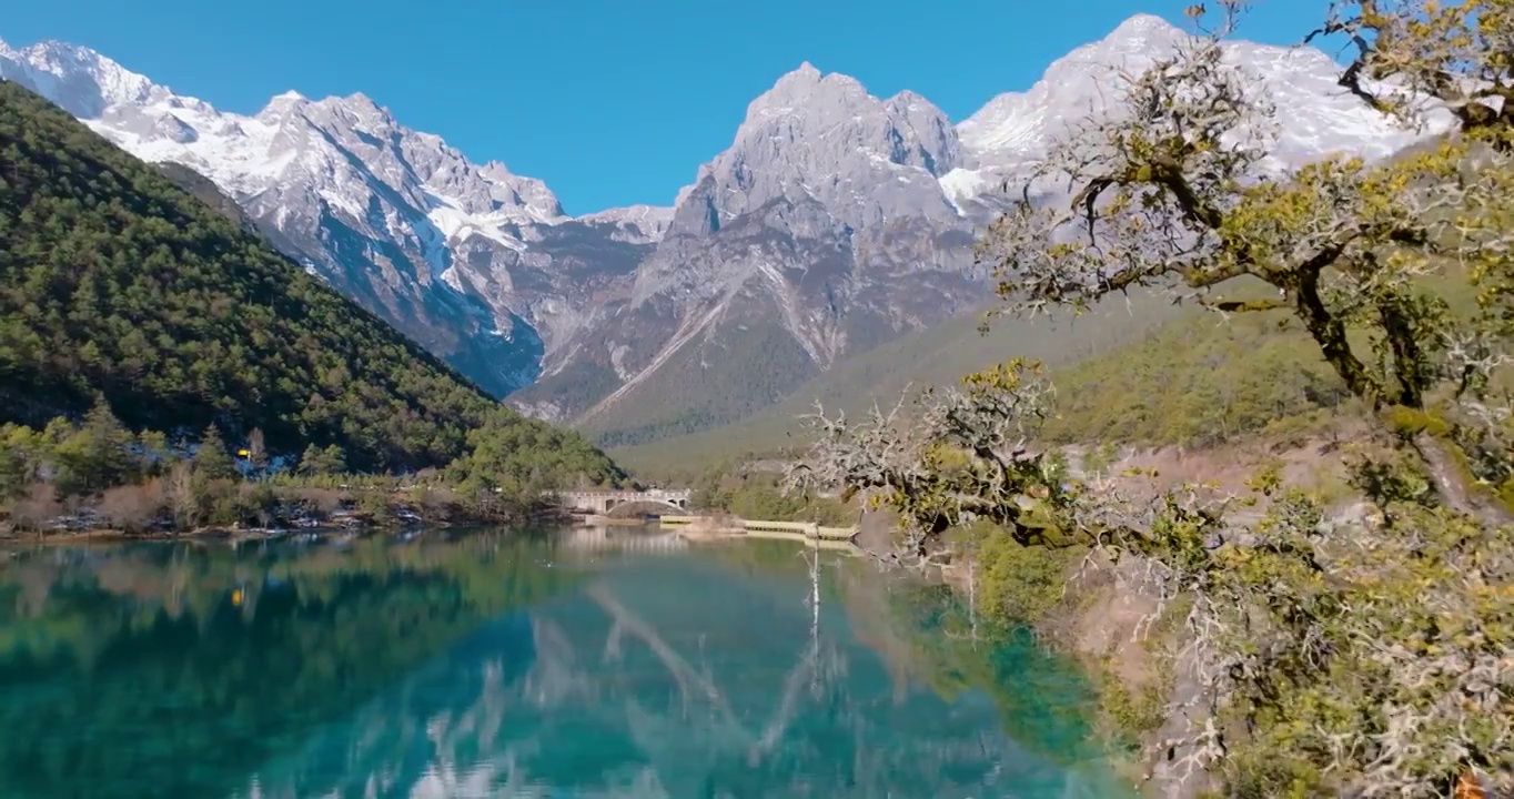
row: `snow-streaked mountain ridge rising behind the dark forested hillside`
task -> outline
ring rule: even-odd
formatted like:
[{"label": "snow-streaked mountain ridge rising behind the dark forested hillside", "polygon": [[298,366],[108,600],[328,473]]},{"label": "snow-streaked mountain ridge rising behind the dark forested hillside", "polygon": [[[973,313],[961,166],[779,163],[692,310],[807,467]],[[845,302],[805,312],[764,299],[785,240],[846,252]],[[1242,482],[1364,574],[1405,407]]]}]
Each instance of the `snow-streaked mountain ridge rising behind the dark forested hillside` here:
[{"label": "snow-streaked mountain ridge rising behind the dark forested hillside", "polygon": [[[540,180],[474,165],[362,94],[286,92],[242,117],[61,42],[0,44],[0,77],[144,160],[209,177],[276,245],[497,393],[536,378],[542,331],[597,288],[581,263],[527,244],[542,238],[534,227],[574,224]],[[612,239],[590,271],[630,271],[656,219],[659,209],[642,209],[630,232],[613,218],[577,222]]]}]

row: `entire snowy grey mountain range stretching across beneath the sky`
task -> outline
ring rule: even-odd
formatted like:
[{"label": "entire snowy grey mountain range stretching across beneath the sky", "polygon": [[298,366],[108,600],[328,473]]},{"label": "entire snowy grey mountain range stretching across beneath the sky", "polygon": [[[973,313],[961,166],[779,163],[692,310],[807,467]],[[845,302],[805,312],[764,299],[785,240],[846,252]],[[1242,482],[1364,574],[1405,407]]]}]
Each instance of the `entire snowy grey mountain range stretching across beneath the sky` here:
[{"label": "entire snowy grey mountain range stretching across beneath the sky", "polygon": [[[631,443],[745,416],[981,303],[970,245],[999,188],[1070,126],[1117,112],[1114,76],[1182,36],[1136,15],[960,124],[804,64],[674,207],[586,216],[360,94],[291,92],[241,117],[58,42],[0,44],[0,77],[204,174],[277,247],[486,389]],[[1228,47],[1278,106],[1279,168],[1416,139],[1338,88],[1319,50]]]}]

